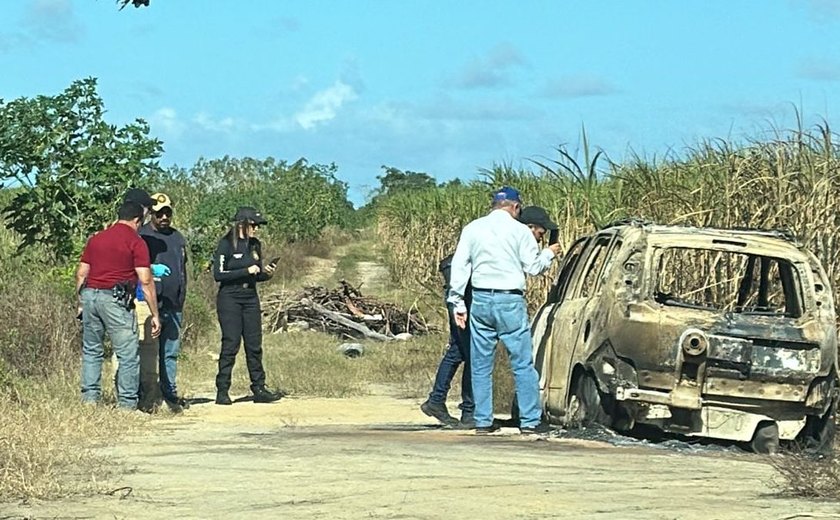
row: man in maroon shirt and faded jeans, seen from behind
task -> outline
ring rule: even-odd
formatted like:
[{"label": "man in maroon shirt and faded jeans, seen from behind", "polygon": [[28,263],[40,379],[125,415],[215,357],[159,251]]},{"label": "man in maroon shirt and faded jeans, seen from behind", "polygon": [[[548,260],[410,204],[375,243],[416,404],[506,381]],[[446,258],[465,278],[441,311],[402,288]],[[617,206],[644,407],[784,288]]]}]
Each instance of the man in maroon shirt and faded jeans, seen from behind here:
[{"label": "man in maroon shirt and faded jeans, seen from behind", "polygon": [[82,401],[102,395],[105,333],[119,360],[117,405],[137,408],[140,379],[137,320],[130,305],[138,280],[152,314],[152,335],[160,334],[157,293],[149,268],[149,248],[138,229],[145,210],[137,202],[120,206],[118,221],[92,236],[76,270],[76,291],[82,309]]}]

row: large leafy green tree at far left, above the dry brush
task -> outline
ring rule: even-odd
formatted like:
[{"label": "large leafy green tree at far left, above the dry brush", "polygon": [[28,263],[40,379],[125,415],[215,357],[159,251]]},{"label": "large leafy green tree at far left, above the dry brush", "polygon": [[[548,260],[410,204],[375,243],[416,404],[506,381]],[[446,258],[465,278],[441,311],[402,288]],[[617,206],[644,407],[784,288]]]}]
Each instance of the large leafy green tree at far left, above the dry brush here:
[{"label": "large leafy green tree at far left, above the dry brush", "polygon": [[95,78],[55,96],[0,100],[0,181],[16,188],[2,212],[21,249],[78,252],[114,219],[126,189],[159,175],[163,143],[148,136],[148,124],[117,127],[104,113]]}]

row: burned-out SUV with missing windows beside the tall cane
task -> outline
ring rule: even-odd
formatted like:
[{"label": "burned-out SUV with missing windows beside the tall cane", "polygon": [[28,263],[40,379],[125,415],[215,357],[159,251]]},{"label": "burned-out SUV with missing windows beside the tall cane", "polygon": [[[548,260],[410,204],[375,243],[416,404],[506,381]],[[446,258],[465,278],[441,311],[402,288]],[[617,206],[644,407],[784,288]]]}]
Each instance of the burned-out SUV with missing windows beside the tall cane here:
[{"label": "burned-out SUV with missing windows beside the tall cane", "polygon": [[787,233],[609,226],[571,246],[533,337],[551,422],[831,449],[834,301]]}]

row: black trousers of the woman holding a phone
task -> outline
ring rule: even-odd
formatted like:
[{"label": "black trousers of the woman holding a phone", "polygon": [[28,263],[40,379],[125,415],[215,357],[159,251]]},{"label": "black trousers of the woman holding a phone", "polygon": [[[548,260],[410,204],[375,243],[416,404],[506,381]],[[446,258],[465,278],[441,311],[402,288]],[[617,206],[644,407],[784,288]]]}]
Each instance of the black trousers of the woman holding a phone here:
[{"label": "black trousers of the woman holding a phone", "polygon": [[219,354],[216,389],[223,392],[230,389],[230,374],[243,340],[248,375],[251,377],[251,390],[265,386],[260,299],[256,289],[221,287],[216,297],[216,314],[222,328],[222,351]]}]

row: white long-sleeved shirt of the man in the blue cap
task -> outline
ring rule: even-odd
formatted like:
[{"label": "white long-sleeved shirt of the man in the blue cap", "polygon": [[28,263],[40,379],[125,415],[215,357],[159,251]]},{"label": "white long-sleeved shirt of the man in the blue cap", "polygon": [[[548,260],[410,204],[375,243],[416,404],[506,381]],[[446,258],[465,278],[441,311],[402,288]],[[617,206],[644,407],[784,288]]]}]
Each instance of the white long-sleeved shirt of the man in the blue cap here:
[{"label": "white long-sleeved shirt of the man in the blue cap", "polygon": [[461,231],[448,301],[455,312],[466,312],[464,291],[470,277],[474,288],[524,291],[525,273],[538,275],[553,259],[551,249],[539,250],[528,226],[503,209],[493,210]]}]

